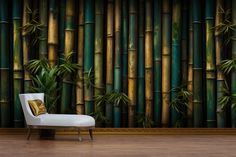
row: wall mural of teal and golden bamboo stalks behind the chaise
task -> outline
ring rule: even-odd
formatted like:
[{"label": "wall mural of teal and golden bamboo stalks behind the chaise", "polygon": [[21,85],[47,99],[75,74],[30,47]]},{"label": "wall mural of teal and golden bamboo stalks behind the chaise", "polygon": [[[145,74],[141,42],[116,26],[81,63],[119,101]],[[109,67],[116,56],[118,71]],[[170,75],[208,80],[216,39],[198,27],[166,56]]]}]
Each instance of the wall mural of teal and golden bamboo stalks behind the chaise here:
[{"label": "wall mural of teal and golden bamboo stalks behind the chaise", "polygon": [[1,127],[24,126],[18,94],[34,83],[24,65],[62,66],[70,55],[77,71],[57,84],[58,112],[91,114],[99,127],[235,127],[235,9],[232,0],[0,0]]}]

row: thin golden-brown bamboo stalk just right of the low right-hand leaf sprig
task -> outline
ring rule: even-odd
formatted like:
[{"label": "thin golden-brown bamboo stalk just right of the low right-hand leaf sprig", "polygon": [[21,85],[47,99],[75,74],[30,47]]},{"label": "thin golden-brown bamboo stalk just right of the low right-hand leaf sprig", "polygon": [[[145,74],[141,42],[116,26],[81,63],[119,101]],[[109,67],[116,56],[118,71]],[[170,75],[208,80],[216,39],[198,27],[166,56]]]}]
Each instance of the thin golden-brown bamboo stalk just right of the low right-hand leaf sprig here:
[{"label": "thin golden-brown bamboo stalk just right of the low right-hand leaf sprig", "polygon": [[[191,3],[191,2],[190,2]],[[190,4],[189,9],[189,29],[188,29],[188,85],[187,90],[193,93],[193,16],[192,16],[192,4]],[[193,96],[190,97],[188,101],[187,110],[188,127],[193,126]]]}]

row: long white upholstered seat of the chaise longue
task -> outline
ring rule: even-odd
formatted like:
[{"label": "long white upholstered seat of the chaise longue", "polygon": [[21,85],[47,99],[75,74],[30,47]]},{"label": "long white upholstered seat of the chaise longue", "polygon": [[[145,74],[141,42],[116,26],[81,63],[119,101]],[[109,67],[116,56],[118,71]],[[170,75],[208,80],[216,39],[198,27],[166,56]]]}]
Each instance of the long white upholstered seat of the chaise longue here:
[{"label": "long white upholstered seat of the chaise longue", "polygon": [[95,120],[87,115],[72,114],[42,114],[40,126],[61,126],[61,127],[92,127],[95,126]]}]

